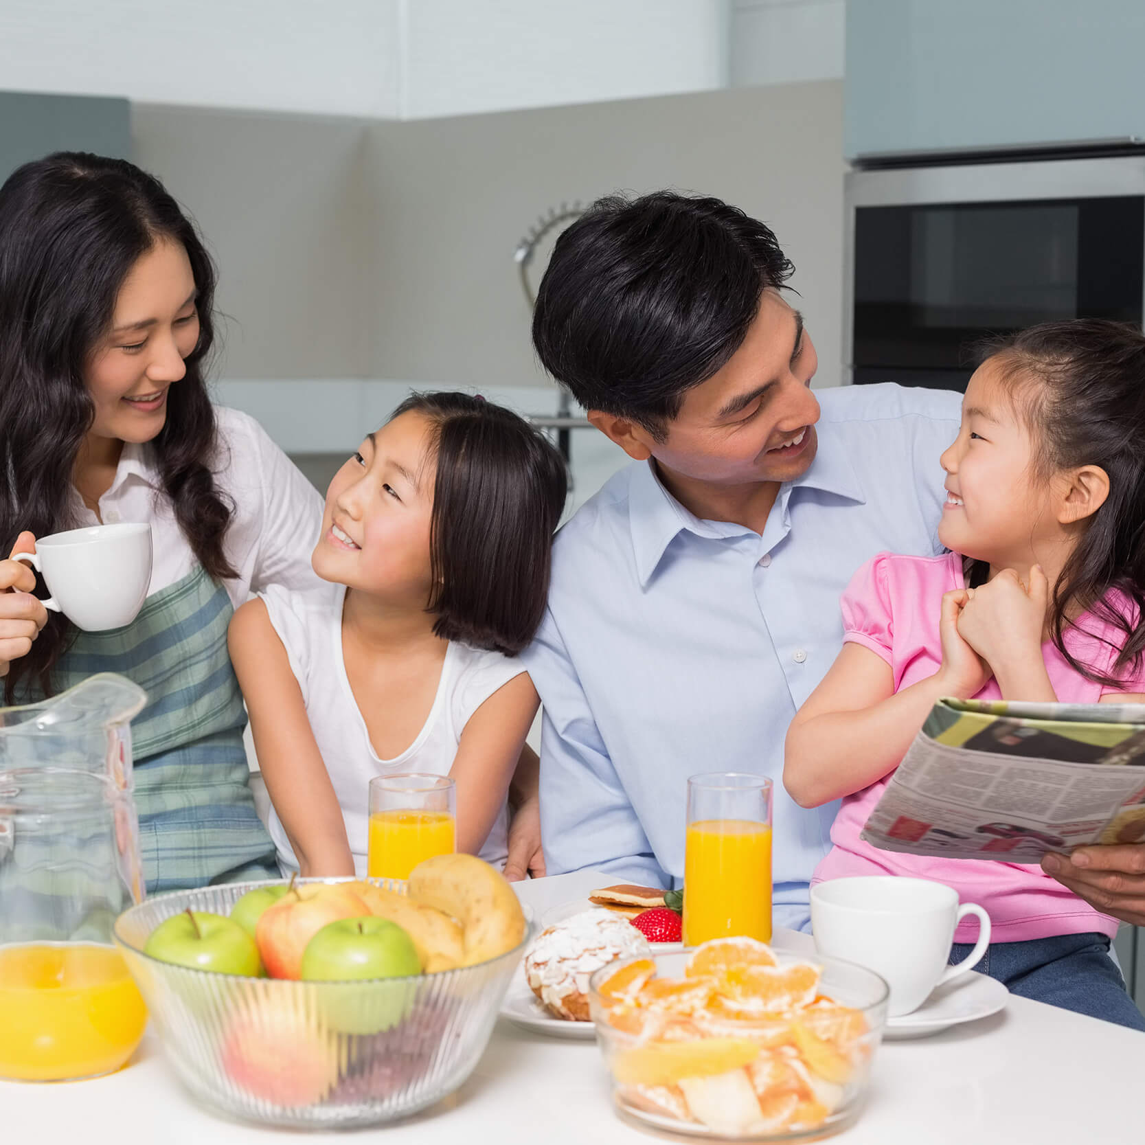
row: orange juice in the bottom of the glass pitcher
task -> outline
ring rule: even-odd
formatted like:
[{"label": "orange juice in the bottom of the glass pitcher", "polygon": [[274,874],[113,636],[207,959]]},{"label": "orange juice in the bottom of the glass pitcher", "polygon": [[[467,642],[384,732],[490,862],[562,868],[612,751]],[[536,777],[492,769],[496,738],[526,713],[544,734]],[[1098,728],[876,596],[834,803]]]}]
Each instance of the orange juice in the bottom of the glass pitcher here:
[{"label": "orange juice in the bottom of the glass pitcher", "polygon": [[0,1077],[95,1077],[132,1056],[147,1008],[109,946],[8,946],[0,948]]}]

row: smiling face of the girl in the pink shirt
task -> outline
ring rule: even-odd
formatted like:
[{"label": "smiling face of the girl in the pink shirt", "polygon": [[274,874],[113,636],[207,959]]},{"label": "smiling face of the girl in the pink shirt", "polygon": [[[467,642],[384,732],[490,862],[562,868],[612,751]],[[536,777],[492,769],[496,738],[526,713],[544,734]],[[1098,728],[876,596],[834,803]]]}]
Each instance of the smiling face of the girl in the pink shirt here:
[{"label": "smiling face of the girl in the pink shirt", "polygon": [[958,436],[941,457],[947,499],[938,536],[964,556],[1021,568],[1060,543],[1063,530],[1052,482],[1039,480],[1035,442],[998,370],[987,360],[966,387]]}]

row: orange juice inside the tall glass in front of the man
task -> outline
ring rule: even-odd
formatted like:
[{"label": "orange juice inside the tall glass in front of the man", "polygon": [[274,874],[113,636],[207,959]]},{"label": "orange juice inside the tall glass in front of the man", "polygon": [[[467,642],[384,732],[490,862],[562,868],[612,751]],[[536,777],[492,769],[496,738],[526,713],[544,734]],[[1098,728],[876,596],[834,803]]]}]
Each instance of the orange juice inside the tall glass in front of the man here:
[{"label": "orange juice inside the tall glass in front of the man", "polygon": [[743,819],[688,824],[684,854],[684,942],[772,937],[772,829]]}]

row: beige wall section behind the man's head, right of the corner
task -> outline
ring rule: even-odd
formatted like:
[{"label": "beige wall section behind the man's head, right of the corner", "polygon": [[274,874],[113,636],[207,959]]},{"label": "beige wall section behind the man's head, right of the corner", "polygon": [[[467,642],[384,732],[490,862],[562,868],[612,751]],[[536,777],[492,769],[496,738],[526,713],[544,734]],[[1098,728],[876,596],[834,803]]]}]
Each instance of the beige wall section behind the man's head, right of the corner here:
[{"label": "beige wall section behind the man's head, right of the corner", "polygon": [[380,377],[543,380],[513,251],[562,200],[663,187],[765,220],[820,356],[840,377],[842,85],[780,85],[371,128],[381,228],[371,360]]}]

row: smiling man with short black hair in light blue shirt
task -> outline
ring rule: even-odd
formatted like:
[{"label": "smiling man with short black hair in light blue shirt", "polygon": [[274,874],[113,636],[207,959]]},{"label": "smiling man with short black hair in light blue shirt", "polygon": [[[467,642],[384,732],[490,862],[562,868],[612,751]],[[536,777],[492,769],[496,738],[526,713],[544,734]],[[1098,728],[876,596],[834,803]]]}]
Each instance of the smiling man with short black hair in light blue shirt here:
[{"label": "smiling man with short black hair in light blue shirt", "polygon": [[957,394],[811,392],[815,348],[760,222],[711,198],[597,203],[540,285],[540,361],[635,464],[561,530],[526,663],[544,705],[550,874],[684,872],[686,781],[775,787],[775,921],[804,925],[836,805],[783,791],[783,737],[875,553],[937,553]]}]

